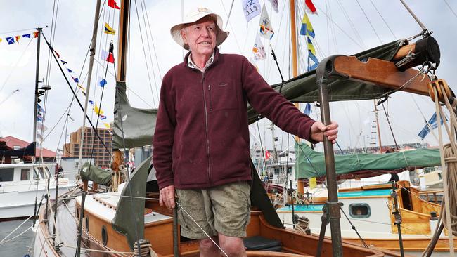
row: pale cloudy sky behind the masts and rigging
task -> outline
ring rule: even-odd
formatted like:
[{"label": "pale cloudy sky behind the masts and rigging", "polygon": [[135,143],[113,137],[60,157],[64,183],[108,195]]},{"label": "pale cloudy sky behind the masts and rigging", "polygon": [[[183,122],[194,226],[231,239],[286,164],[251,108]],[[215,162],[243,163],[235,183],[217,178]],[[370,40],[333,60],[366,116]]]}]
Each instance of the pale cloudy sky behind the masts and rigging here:
[{"label": "pale cloudy sky behind the masts and rigging", "polygon": [[[101,1],[103,4],[103,0]],[[231,16],[226,30],[231,32],[228,39],[221,45],[222,53],[238,53],[252,59],[252,46],[258,31],[259,16],[250,22],[245,20],[241,0],[201,0],[201,1],[132,1],[131,2],[131,34],[129,38],[129,61],[127,84],[131,105],[141,108],[157,107],[158,92],[162,76],[170,67],[183,60],[186,53],[169,35],[169,28],[181,22],[183,11],[203,6],[219,13],[224,20],[224,27],[228,12],[233,3]],[[269,0],[259,0],[265,4],[273,30],[273,38],[262,39],[267,53],[274,49],[278,63],[285,79],[292,77],[290,72],[290,26],[289,1],[278,0],[279,11],[271,8]],[[304,12],[304,1],[297,1],[297,25]],[[388,4],[387,4],[388,3]],[[70,75],[79,77],[80,84],[87,88],[84,79],[88,70],[86,55],[91,41],[94,26],[95,0],[80,1],[32,1],[0,0],[2,8],[0,17],[0,136],[15,136],[23,140],[32,141],[33,128],[33,93],[35,84],[35,70],[37,60],[37,39],[20,39],[19,43],[8,45],[6,37],[14,37],[31,33],[35,27],[44,27],[44,36],[52,41],[53,48],[60,54],[60,58],[67,62],[64,66],[70,68],[73,74],[65,73],[70,79],[71,86],[76,84]],[[309,15],[314,27],[316,47],[319,60],[329,55],[351,55],[369,48],[385,44],[397,39],[404,39],[420,33],[421,29],[400,1],[382,0],[314,0],[318,8],[318,15]],[[456,1],[406,1],[406,4],[418,16],[421,22],[433,31],[432,36],[437,39],[441,49],[441,64],[437,69],[437,76],[446,79],[451,88],[455,88],[457,78],[453,60],[457,60],[457,51],[453,45],[456,40],[457,10]],[[106,3],[103,5],[105,6]],[[54,16],[53,16],[54,10]],[[112,108],[115,95],[115,66],[108,65],[101,60],[101,49],[108,50],[110,41],[117,49],[117,35],[114,37],[102,34],[103,25],[108,22],[117,29],[119,11],[112,8],[102,8],[102,15],[98,26],[96,46],[96,62],[91,81],[90,99],[98,103],[107,117],[105,121],[113,119]],[[56,20],[53,25],[53,18]],[[47,26],[47,27],[46,27]],[[299,28],[300,29],[300,28]],[[148,39],[148,40],[147,40]],[[306,45],[304,37],[299,37],[299,64],[300,73],[307,66]],[[146,50],[145,50],[146,49]],[[115,53],[117,58],[117,53]],[[58,65],[51,60],[48,65],[49,48],[41,39],[41,56],[39,79],[43,84],[49,84],[51,91],[42,99],[42,106],[46,109],[44,132],[44,147],[56,151],[62,148],[63,142],[69,140],[69,134],[82,126],[83,113],[73,103],[70,116],[67,118],[67,107],[72,100],[72,93],[63,78]],[[276,65],[271,55],[266,60],[252,61],[259,68],[259,72],[269,84],[281,81]],[[49,69],[47,69],[49,67]],[[49,70],[49,72],[47,72]],[[108,84],[103,90],[98,86],[98,77],[104,77]],[[43,80],[44,79],[44,80]],[[79,93],[79,99],[84,104],[84,96]],[[46,103],[46,104],[45,104]],[[379,109],[380,107],[378,107]],[[389,115],[392,131],[397,143],[430,143],[437,145],[437,139],[431,134],[425,140],[417,136],[435,112],[430,98],[408,93],[395,93],[385,103]],[[312,107],[311,117],[320,119],[318,108]],[[371,139],[373,134],[374,106],[373,100],[348,101],[330,104],[331,117],[340,124],[338,143],[340,147],[364,147],[377,140]],[[382,110],[382,109],[381,109]],[[317,114],[317,115],[316,115]],[[96,121],[94,112],[89,111],[89,117]],[[66,122],[67,120],[67,122]],[[383,145],[392,145],[394,140],[387,125],[384,111],[379,112],[380,136]],[[251,142],[260,143],[271,148],[271,130],[266,129],[270,121],[259,121],[259,129],[251,126]],[[103,124],[99,124],[103,127]],[[437,132],[437,131],[436,131]],[[280,138],[276,142],[278,149],[287,148],[293,140],[280,129],[275,129],[275,136]]]}]

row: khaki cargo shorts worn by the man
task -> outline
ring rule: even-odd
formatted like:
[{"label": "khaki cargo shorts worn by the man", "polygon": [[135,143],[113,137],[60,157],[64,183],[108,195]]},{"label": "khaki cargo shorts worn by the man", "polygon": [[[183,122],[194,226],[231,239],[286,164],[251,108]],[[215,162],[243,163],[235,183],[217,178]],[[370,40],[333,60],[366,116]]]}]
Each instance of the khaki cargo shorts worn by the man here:
[{"label": "khaki cargo shorts worn by the man", "polygon": [[176,189],[176,195],[182,206],[178,209],[178,219],[184,237],[204,239],[207,236],[202,230],[210,236],[217,236],[218,232],[228,237],[246,236],[251,205],[249,183],[228,183],[199,190]]}]

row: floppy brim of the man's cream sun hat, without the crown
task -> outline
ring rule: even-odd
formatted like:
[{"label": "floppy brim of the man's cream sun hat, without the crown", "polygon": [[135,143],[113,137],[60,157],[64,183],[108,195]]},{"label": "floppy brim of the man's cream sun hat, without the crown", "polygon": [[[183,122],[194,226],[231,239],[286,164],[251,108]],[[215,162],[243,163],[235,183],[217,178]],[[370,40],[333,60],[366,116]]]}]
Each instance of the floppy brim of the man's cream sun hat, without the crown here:
[{"label": "floppy brim of the man's cream sun hat, without the crown", "polygon": [[222,30],[222,18],[221,16],[217,15],[216,13],[207,13],[205,15],[201,16],[195,16],[192,20],[186,20],[186,22],[179,23],[178,25],[174,25],[170,29],[170,34],[172,34],[172,38],[174,41],[179,44],[179,46],[182,46],[184,49],[189,50],[188,44],[184,43],[184,39],[181,35],[181,29],[184,29],[188,25],[191,25],[193,22],[197,22],[198,20],[201,20],[202,18],[205,18],[207,16],[212,16],[214,20],[216,20],[216,27],[217,27],[217,36],[216,36],[216,46],[219,46],[224,42],[227,37],[229,32]]}]

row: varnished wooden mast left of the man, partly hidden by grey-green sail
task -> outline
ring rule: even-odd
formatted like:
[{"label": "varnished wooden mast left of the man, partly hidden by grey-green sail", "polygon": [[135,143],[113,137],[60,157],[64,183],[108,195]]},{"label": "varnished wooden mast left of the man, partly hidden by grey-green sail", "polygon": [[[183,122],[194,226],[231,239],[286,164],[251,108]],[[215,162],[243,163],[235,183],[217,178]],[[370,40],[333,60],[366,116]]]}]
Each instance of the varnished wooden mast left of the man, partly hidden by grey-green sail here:
[{"label": "varnished wooden mast left of the man, partly hidden by grey-green sail", "polygon": [[[120,15],[119,15],[119,40],[117,46],[117,82],[125,82],[126,71],[127,71],[127,37],[129,32],[129,0],[121,1],[120,3]],[[115,172],[115,178],[117,179],[116,185],[119,185],[120,172],[119,166],[124,163],[124,158],[120,150],[112,151],[112,164],[111,169]]]}]

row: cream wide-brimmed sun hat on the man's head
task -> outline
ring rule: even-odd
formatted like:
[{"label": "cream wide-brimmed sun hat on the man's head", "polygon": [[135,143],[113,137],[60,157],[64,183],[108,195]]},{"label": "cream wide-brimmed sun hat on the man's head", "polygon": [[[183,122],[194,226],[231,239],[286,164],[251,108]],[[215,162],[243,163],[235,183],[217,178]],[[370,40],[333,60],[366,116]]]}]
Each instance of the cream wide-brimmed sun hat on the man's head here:
[{"label": "cream wide-brimmed sun hat on the man's head", "polygon": [[202,8],[198,7],[196,9],[193,9],[187,13],[186,17],[184,17],[184,21],[179,23],[178,25],[174,25],[170,29],[170,33],[172,34],[172,38],[176,43],[179,44],[179,46],[184,47],[184,49],[189,50],[188,44],[184,44],[184,39],[181,36],[181,29],[186,27],[186,25],[190,25],[193,22],[196,22],[200,20],[201,18],[204,18],[206,16],[210,16],[215,20],[216,22],[216,27],[217,27],[217,36],[216,36],[216,46],[219,46],[222,44],[222,42],[225,41],[225,39],[228,37],[228,32],[222,30],[222,18],[221,16],[217,15],[216,13],[212,13],[210,9],[208,8]]}]

